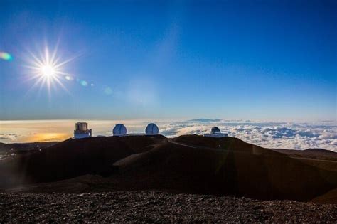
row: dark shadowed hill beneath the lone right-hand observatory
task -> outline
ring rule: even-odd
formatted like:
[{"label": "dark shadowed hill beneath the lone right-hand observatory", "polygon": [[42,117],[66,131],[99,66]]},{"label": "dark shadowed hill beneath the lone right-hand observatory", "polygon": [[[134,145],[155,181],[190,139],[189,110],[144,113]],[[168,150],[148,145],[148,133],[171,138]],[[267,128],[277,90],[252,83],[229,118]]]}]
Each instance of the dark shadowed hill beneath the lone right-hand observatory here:
[{"label": "dark shadowed hill beneath the lone right-hand observatory", "polygon": [[302,201],[337,186],[334,172],[240,139],[183,136],[173,141],[118,161],[130,181],[126,187]]}]

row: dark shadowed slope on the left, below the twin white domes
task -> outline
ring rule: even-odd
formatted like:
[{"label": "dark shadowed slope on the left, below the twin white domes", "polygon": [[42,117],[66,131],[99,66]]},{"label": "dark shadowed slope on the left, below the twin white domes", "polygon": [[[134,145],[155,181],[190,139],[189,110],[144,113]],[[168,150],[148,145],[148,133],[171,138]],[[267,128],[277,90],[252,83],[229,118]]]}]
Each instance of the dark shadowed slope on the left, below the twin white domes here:
[{"label": "dark shadowed slope on the left, below the twin white domes", "polygon": [[[68,139],[43,151],[18,155],[0,164],[1,183],[58,181],[84,174],[111,174],[114,161],[146,150],[164,137],[98,137]],[[149,148],[151,149],[151,147]],[[7,176],[6,176],[7,175]]]}]

